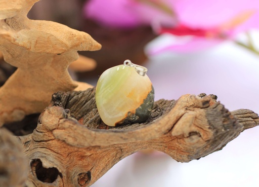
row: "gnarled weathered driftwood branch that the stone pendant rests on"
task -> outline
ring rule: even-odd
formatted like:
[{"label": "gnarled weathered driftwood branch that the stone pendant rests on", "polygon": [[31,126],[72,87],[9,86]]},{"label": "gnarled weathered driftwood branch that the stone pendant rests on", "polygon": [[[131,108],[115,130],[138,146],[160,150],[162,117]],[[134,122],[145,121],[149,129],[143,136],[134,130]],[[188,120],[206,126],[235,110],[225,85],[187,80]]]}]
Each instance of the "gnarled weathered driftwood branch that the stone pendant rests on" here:
[{"label": "gnarled weathered driftwood branch that the stone pendant rests on", "polygon": [[90,186],[142,149],[189,162],[219,151],[243,130],[259,125],[253,111],[230,113],[214,95],[200,94],[156,101],[146,123],[108,127],[94,96],[94,88],[54,94],[34,132],[20,137],[31,167],[28,187]]}]

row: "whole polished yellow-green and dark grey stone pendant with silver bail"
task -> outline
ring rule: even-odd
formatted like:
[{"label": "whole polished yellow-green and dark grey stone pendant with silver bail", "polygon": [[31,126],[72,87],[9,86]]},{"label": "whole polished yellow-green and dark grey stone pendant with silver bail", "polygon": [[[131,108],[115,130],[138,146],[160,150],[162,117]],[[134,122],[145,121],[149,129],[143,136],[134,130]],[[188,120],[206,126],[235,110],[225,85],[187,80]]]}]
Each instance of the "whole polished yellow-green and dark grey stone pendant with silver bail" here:
[{"label": "whole polished yellow-green and dark grey stone pendant with silver bail", "polygon": [[154,104],[154,88],[147,68],[125,60],[104,71],[96,86],[96,105],[108,126],[143,123]]}]

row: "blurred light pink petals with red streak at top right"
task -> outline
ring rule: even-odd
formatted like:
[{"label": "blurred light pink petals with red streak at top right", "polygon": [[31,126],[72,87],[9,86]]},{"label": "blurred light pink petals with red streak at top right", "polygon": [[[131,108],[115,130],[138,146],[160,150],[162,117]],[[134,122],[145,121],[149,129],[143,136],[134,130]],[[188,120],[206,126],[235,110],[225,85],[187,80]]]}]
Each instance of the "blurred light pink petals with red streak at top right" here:
[{"label": "blurred light pink petals with red streak at top right", "polygon": [[225,40],[233,40],[237,33],[258,28],[258,1],[204,1],[181,0],[174,4],[178,18],[175,27],[160,26],[159,34],[170,33],[185,43],[167,44],[149,48],[147,53],[155,55],[164,51],[192,52],[215,46]]}]

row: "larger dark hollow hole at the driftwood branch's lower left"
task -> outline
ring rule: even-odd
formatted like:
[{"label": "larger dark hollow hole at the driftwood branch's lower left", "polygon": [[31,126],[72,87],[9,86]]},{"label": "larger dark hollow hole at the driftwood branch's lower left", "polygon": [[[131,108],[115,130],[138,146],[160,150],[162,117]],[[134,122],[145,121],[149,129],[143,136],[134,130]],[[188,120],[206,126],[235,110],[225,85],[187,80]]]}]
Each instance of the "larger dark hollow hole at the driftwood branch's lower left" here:
[{"label": "larger dark hollow hole at the driftwood branch's lower left", "polygon": [[52,183],[58,178],[58,175],[60,175],[62,177],[61,173],[59,172],[59,170],[57,168],[43,167],[40,159],[32,160],[31,170],[32,170],[33,175],[34,176],[36,175],[37,179],[42,182]]}]

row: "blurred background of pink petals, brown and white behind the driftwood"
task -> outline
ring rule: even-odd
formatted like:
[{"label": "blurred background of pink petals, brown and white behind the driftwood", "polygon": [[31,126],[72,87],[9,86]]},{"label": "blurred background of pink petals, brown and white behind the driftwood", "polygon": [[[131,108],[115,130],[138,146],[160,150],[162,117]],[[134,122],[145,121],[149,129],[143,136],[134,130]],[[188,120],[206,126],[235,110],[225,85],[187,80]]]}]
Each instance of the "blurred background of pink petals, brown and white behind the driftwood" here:
[{"label": "blurred background of pink petals, brown and white behind the driftwood", "polygon": [[[215,94],[230,111],[259,113],[259,2],[254,0],[44,0],[31,19],[51,20],[89,33],[102,44],[79,52],[96,63],[70,68],[79,81],[125,59],[148,68],[155,100]],[[259,186],[259,128],[244,131],[222,151],[177,163],[165,154],[136,153],[93,186]]]}]

